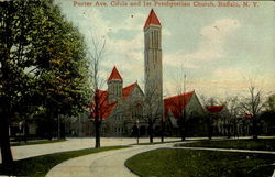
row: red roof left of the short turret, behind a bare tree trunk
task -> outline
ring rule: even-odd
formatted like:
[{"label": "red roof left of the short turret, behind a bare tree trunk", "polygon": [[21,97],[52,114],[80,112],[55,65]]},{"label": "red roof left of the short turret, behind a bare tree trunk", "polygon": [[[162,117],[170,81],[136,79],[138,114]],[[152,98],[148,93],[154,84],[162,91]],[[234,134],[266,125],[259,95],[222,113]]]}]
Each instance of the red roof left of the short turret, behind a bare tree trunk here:
[{"label": "red roof left of the short turret, behind a bare tree trunk", "polygon": [[[117,102],[111,103],[111,104],[108,103],[108,92],[107,91],[98,90],[96,93],[99,98],[99,103],[98,103],[99,118],[106,119],[111,114],[112,110],[117,106]],[[95,102],[94,101],[91,102],[90,109],[91,109],[90,118],[95,119],[96,113],[95,113]]]}]

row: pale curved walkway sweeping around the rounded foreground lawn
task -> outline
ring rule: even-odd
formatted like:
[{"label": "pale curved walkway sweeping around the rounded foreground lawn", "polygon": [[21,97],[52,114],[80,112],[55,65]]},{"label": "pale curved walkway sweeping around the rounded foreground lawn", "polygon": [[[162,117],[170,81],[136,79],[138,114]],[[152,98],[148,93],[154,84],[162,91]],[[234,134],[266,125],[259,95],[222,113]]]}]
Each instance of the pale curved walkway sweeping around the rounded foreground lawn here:
[{"label": "pale curved walkway sweeping around the rounded foreground lawn", "polygon": [[[190,142],[188,142],[190,143]],[[267,151],[249,150],[226,150],[226,148],[205,148],[205,147],[173,147],[175,143],[155,144],[155,145],[135,145],[130,148],[116,150],[98,154],[91,154],[82,157],[66,161],[50,170],[46,177],[136,177],[125,166],[124,162],[131,156],[152,151],[156,148],[188,148],[207,151],[227,151],[243,153],[265,153],[275,154]],[[272,177],[275,177],[275,172]]]}]

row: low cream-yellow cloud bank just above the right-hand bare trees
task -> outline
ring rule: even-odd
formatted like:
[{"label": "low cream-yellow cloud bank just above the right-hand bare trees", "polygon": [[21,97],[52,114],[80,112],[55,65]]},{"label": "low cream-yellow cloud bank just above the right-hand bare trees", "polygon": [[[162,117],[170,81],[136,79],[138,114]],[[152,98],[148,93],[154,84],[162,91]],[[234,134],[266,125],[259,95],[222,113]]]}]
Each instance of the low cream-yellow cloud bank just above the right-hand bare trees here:
[{"label": "low cream-yellow cloud bank just above the right-hand bare trees", "polygon": [[[189,78],[186,80],[186,91],[196,90],[198,96],[215,97],[218,99],[239,96],[248,97],[251,82],[263,89],[264,95],[274,92],[274,75],[263,75],[257,77],[241,68],[216,68],[208,74],[207,78]],[[172,78],[164,77],[165,96],[177,93],[176,82]]]}]

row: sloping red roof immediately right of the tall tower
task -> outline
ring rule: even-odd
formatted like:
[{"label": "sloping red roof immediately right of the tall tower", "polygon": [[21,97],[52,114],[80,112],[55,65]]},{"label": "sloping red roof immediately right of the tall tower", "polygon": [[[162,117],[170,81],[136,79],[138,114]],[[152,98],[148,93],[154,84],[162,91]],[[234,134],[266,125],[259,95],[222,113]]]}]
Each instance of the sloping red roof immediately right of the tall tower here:
[{"label": "sloping red roof immediately right of the tall tower", "polygon": [[164,115],[167,117],[168,112],[172,111],[174,118],[178,119],[186,104],[190,101],[194,92],[195,91],[190,91],[164,99]]}]

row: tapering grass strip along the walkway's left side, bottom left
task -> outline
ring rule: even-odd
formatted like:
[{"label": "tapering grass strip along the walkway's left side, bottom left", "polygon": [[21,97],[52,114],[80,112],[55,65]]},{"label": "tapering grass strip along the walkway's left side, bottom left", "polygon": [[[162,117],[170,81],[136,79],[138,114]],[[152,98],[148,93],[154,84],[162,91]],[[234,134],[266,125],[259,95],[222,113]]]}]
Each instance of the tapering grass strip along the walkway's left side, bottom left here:
[{"label": "tapering grass strip along the walkway's left side, bottom left", "polygon": [[52,169],[54,166],[69,158],[88,155],[92,153],[99,153],[103,151],[124,148],[124,147],[127,146],[86,148],[80,151],[55,153],[55,154],[20,159],[15,161],[10,166],[3,166],[2,164],[0,164],[0,175],[44,177],[47,174],[47,172]]}]

